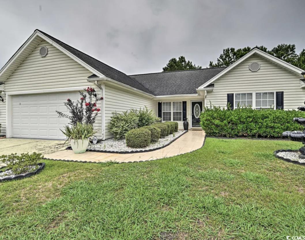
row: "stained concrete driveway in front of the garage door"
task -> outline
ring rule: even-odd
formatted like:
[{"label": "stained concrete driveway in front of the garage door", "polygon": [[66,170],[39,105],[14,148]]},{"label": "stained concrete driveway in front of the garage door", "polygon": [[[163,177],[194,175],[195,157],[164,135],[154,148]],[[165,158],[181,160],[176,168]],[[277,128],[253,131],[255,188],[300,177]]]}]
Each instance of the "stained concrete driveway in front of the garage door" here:
[{"label": "stained concrete driveway in front of the garage door", "polygon": [[0,155],[11,153],[42,153],[51,154],[59,150],[66,149],[64,141],[43,140],[29,138],[3,138],[0,139]]}]

